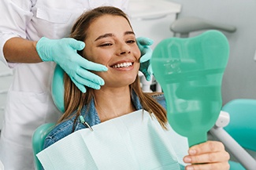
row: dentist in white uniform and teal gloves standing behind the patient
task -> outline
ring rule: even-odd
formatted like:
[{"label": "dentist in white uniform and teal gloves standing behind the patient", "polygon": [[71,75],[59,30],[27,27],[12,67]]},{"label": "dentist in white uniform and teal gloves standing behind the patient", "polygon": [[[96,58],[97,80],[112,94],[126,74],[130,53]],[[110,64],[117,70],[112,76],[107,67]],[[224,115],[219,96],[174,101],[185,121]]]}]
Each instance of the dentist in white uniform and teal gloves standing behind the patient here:
[{"label": "dentist in white uniform and teal gloves standing behind the patient", "polygon": [[[13,68],[5,120],[0,137],[0,160],[8,170],[33,169],[32,133],[39,125],[57,121],[60,114],[51,97],[56,63],[69,74],[81,92],[100,89],[102,78],[91,71],[107,71],[76,51],[85,47],[69,37],[72,24],[87,9],[113,5],[124,11],[128,0],[2,0],[0,2],[0,60]],[[147,71],[153,42],[138,38],[142,53],[140,71]],[[85,47],[86,48],[86,47]]]}]

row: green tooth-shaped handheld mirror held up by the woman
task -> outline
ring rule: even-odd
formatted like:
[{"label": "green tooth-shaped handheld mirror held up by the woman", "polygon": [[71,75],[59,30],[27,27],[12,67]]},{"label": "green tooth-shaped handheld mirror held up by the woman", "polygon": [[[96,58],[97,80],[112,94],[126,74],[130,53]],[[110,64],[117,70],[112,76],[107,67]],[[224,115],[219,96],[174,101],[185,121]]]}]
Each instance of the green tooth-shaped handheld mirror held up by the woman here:
[{"label": "green tooth-shaped handheld mirror held up by the woman", "polygon": [[217,121],[228,55],[228,40],[220,31],[168,38],[154,49],[152,69],[165,94],[169,124],[189,146],[206,142]]}]

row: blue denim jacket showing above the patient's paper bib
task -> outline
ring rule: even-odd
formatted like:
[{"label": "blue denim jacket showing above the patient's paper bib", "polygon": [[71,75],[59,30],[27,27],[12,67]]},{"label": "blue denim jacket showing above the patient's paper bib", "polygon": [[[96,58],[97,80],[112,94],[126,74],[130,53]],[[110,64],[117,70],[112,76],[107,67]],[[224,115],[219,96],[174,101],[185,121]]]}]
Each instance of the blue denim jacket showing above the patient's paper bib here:
[{"label": "blue denim jacket showing above the patient's paper bib", "polygon": [[[165,97],[163,94],[154,95],[153,98],[156,99],[156,101],[166,109]],[[143,109],[141,103],[139,102],[139,97],[136,96],[135,92],[132,92],[132,103],[135,107],[135,110]],[[83,116],[84,121],[86,121],[90,126],[101,123],[100,119],[98,118],[97,110],[95,109],[94,99],[91,99],[91,103],[83,107],[80,114]],[[74,131],[80,130],[82,128],[88,128],[80,121],[79,118],[76,120],[76,122],[74,122],[75,118],[76,115],[74,115],[69,120],[63,121],[61,124],[57,125],[46,137],[43,147],[46,148],[53,143],[56,143],[58,140],[64,138],[65,136],[71,134],[74,124]]]}]

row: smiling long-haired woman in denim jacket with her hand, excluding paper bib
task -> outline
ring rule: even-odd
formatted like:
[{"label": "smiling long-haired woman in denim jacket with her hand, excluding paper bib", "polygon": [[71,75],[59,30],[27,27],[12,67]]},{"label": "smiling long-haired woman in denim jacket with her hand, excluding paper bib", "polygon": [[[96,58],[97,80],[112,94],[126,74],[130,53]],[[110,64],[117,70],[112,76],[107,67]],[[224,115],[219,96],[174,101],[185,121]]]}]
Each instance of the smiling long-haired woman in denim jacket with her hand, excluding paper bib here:
[{"label": "smiling long-haired woman in denim jacket with her hand, excluding paper bib", "polygon": [[[65,114],[46,137],[45,147],[54,146],[58,140],[82,128],[93,128],[142,109],[156,118],[163,132],[169,131],[164,97],[140,89],[139,48],[131,24],[120,9],[99,7],[84,13],[72,27],[71,37],[87,45],[88,48],[79,52],[81,56],[108,68],[106,72],[95,73],[104,79],[105,85],[82,93],[65,74]],[[183,143],[185,139],[181,140]],[[218,142],[192,146],[188,155],[183,156],[185,163],[191,163],[187,170],[229,168],[229,155]]]}]

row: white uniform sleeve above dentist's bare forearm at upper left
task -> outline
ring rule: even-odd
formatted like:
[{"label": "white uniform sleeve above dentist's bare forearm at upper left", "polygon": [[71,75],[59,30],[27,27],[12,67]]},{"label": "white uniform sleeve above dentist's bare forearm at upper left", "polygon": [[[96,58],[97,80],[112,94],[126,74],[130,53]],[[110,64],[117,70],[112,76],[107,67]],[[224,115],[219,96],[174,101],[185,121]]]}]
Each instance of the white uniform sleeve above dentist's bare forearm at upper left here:
[{"label": "white uniform sleeve above dentist's bare forearm at upper left", "polygon": [[0,60],[6,62],[3,46],[9,38],[27,38],[26,25],[32,19],[32,0],[1,0],[0,1]]}]

